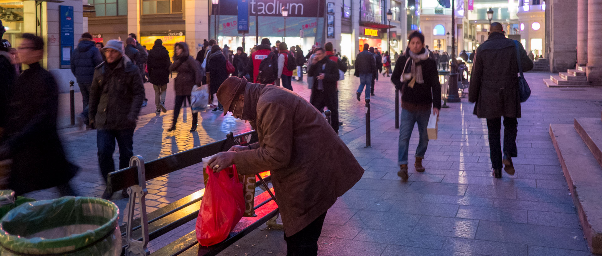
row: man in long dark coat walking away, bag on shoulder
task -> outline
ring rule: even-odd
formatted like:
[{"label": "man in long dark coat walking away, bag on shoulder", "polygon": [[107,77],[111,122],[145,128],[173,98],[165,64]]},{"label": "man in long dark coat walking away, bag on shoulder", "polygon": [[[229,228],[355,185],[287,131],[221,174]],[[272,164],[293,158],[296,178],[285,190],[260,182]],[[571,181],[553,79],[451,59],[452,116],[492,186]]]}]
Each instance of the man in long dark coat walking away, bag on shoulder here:
[{"label": "man in long dark coat walking away, bag on shoulder", "polygon": [[[517,157],[517,118],[521,117],[518,96],[518,59],[520,54],[523,72],[533,69],[533,62],[523,49],[523,44],[506,38],[503,26],[491,23],[489,38],[474,53],[468,101],[476,102],[474,114],[487,119],[489,153],[492,175],[501,178],[501,167],[514,175],[512,157]],[[501,117],[504,117],[504,150],[500,144]]]}]

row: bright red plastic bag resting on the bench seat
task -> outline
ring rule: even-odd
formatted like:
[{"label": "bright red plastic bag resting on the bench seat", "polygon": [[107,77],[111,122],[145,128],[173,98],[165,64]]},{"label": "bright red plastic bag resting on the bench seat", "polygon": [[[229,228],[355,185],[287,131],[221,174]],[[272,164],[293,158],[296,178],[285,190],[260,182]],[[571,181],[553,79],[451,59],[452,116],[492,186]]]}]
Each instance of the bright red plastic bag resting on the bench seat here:
[{"label": "bright red plastic bag resting on the bench seat", "polygon": [[228,234],[244,214],[243,184],[238,180],[236,166],[209,175],[205,195],[196,219],[196,239],[202,246],[211,246],[228,238]]}]

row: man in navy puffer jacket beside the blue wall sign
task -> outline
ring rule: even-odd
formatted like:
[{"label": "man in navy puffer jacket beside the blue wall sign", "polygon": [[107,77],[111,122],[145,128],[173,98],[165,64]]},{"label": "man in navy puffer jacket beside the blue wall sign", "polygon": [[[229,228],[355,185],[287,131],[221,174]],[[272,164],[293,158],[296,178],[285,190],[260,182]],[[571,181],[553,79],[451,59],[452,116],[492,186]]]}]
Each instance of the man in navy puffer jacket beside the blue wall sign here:
[{"label": "man in navy puffer jacket beside the blue wall sign", "polygon": [[84,111],[80,117],[85,124],[85,129],[94,129],[90,126],[88,119],[88,102],[90,100],[90,86],[94,76],[94,69],[102,63],[101,52],[94,46],[95,41],[92,40],[92,35],[85,32],[81,35],[77,48],[71,53],[71,72],[77,80],[79,92],[81,93]]}]

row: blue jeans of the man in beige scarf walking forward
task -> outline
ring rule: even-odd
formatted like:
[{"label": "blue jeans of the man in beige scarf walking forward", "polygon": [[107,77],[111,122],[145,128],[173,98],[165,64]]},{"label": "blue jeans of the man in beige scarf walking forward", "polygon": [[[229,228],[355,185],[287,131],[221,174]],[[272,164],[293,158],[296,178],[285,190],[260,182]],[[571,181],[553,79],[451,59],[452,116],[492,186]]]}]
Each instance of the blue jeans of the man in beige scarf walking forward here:
[{"label": "blue jeans of the man in beige scarf walking forward", "polygon": [[426,132],[426,127],[429,124],[430,111],[431,110],[429,109],[425,111],[414,112],[402,108],[402,115],[399,125],[399,151],[397,152],[397,165],[408,164],[410,137],[412,136],[412,130],[414,130],[415,123],[418,123],[418,133],[420,133],[420,140],[418,141],[418,148],[416,148],[415,157],[424,158],[426,147],[429,145],[429,135]]}]

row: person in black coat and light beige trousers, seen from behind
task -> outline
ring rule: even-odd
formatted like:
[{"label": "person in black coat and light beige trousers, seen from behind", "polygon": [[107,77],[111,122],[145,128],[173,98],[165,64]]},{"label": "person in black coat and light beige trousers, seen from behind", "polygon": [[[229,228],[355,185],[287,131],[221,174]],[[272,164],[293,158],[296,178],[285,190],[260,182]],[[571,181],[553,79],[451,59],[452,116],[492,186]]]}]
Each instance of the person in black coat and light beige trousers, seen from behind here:
[{"label": "person in black coat and light beige trousers, seen from behind", "polygon": [[169,83],[169,66],[172,62],[169,59],[169,52],[163,46],[163,40],[155,40],[155,45],[149,50],[149,79],[152,87],[155,89],[155,114],[161,114],[161,111],[167,112],[165,108],[165,96],[167,94],[167,83]]}]

